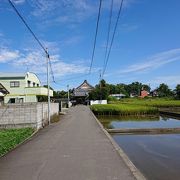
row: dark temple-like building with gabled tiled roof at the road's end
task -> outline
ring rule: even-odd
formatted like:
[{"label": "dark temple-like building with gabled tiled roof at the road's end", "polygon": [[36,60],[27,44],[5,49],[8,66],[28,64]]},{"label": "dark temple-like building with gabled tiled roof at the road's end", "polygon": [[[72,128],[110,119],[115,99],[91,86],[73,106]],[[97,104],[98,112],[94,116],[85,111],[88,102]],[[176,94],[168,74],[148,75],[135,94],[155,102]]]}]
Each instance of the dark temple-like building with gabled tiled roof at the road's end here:
[{"label": "dark temple-like building with gabled tiled roof at the road's end", "polygon": [[87,80],[84,80],[80,86],[73,90],[72,96],[75,104],[89,104],[89,92],[93,89],[94,87],[91,86]]}]

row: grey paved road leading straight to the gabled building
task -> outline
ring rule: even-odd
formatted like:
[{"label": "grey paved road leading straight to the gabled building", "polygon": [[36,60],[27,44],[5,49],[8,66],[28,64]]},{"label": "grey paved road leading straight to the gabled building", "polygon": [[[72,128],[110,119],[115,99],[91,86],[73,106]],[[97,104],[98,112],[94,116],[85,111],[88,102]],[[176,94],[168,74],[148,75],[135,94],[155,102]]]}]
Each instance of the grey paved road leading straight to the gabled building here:
[{"label": "grey paved road leading straight to the gabled building", "polygon": [[0,159],[0,180],[131,180],[134,176],[88,107],[63,119]]}]

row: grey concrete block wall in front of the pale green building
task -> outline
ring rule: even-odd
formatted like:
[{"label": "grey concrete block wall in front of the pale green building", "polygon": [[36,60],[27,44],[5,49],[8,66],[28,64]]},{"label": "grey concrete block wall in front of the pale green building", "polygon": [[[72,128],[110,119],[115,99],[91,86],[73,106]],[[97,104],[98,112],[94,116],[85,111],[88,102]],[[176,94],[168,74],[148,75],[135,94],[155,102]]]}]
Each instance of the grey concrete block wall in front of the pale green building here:
[{"label": "grey concrete block wall in front of the pale green building", "polygon": [[[59,104],[51,103],[51,116],[59,113]],[[48,123],[47,103],[24,103],[0,106],[0,128],[35,127]]]}]

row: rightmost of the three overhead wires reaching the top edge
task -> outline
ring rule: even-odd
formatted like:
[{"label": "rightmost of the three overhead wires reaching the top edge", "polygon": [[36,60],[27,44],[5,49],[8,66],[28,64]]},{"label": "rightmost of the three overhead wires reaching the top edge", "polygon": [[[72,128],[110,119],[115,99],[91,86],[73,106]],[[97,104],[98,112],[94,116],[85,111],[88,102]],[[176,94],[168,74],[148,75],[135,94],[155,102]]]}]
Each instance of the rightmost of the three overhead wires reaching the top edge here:
[{"label": "rightmost of the three overhead wires reaching the top edge", "polygon": [[107,64],[108,64],[108,61],[109,61],[109,56],[110,56],[110,53],[111,53],[111,49],[112,49],[114,37],[115,37],[115,34],[116,34],[119,18],[120,18],[121,12],[122,12],[122,6],[123,6],[123,0],[121,0],[120,6],[119,6],[118,16],[117,16],[117,19],[116,19],[116,24],[115,24],[115,27],[114,27],[113,36],[112,36],[112,39],[111,39],[111,44],[110,44],[110,47],[109,47],[108,55],[107,55],[107,58],[106,58],[106,63],[105,63],[103,73],[102,73],[102,77],[104,76],[104,73],[106,71]]}]

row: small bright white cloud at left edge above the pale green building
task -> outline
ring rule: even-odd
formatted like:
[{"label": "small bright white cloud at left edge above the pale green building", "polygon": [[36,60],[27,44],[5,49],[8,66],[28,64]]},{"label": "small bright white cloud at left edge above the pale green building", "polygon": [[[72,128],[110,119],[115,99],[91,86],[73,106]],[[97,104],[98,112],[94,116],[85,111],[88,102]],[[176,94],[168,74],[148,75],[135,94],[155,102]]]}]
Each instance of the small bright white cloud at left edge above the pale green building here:
[{"label": "small bright white cloud at left edge above the pale green building", "polygon": [[0,63],[9,62],[20,57],[19,51],[0,48]]}]

